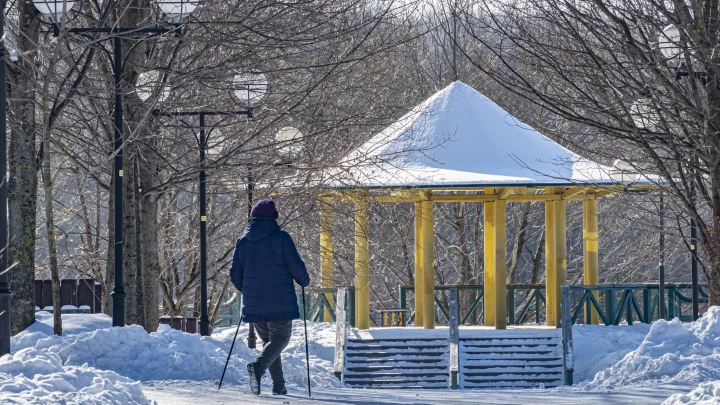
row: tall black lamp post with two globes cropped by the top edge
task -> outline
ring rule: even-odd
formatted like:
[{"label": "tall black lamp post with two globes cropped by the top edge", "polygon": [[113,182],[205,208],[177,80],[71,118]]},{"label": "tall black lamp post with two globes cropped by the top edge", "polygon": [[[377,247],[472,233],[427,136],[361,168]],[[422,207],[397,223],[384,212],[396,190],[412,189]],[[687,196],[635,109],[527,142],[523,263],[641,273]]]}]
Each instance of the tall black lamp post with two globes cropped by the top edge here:
[{"label": "tall black lamp post with two globes cropped by the top edge", "polygon": [[[188,16],[200,4],[200,0],[154,0],[155,4],[170,17],[175,27],[169,28],[70,28],[63,32],[84,34],[84,33],[106,33],[110,34],[113,40],[113,55],[110,58],[113,65],[113,79],[115,85],[115,108],[114,116],[114,144],[115,161],[113,168],[113,181],[115,183],[115,204],[114,208],[114,241],[115,241],[115,286],[113,287],[113,326],[125,326],[125,286],[123,275],[123,108],[122,108],[122,71],[125,67],[124,59],[135,48],[131,48],[128,55],[122,53],[122,39],[124,35],[136,33],[145,34],[166,34],[174,32],[179,34],[179,24],[182,19]],[[35,7],[49,17],[53,25],[53,35],[60,35],[60,27],[63,15],[74,5],[74,1],[68,0],[33,0]]]}]

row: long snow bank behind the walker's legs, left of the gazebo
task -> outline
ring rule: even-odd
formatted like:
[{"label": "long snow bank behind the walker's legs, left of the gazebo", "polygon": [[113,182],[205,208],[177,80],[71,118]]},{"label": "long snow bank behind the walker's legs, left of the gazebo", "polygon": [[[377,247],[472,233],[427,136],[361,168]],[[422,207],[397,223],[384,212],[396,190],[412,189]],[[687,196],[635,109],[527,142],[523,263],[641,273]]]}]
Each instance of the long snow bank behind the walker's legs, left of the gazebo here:
[{"label": "long snow bank behind the walker's legs, left of the gazebo", "polygon": [[[63,315],[63,322],[66,316]],[[87,321],[93,323],[98,320],[87,318]],[[71,324],[68,322],[68,325]],[[157,332],[149,334],[142,327],[131,325],[122,328],[105,327],[92,332],[68,332],[66,336],[60,337],[33,332],[42,329],[42,326],[33,327],[13,338],[13,350],[32,348],[57,356],[66,367],[87,365],[139,381],[219,380],[236,330],[235,327],[222,328],[215,330],[211,337],[201,337],[199,334],[171,329],[167,325],[161,325]],[[78,331],[86,328],[87,325],[75,326]],[[341,386],[332,373],[335,324],[309,322],[308,334],[311,340],[309,348],[313,386]],[[247,384],[245,364],[254,361],[259,352],[247,347],[246,336],[247,327],[243,325],[235,342],[224,383]],[[289,387],[307,386],[305,367],[303,324],[302,321],[295,321],[292,339],[283,352],[283,369]],[[271,386],[269,376],[263,382]]]}]

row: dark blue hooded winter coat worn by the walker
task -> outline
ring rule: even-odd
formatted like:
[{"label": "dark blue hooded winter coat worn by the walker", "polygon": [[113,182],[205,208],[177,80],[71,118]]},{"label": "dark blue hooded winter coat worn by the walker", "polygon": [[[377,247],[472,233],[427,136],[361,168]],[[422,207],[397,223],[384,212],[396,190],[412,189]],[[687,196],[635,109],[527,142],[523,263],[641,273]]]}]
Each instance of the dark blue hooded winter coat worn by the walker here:
[{"label": "dark blue hooded winter coat worn by the walker", "polygon": [[290,234],[271,218],[252,218],[235,243],[230,280],[242,291],[244,322],[300,318],[293,280],[310,285]]}]

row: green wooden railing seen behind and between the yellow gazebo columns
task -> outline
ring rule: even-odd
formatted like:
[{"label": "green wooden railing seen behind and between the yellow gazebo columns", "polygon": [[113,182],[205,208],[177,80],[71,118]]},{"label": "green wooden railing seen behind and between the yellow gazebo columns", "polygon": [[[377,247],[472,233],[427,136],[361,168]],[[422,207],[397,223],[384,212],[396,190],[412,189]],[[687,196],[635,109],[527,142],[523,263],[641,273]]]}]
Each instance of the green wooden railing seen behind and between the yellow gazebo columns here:
[{"label": "green wooden railing seen behind and between the yellow gazebo columns", "polygon": [[[355,289],[347,287],[348,324],[355,325]],[[448,323],[448,296],[451,288],[457,288],[459,300],[458,319],[461,325],[484,324],[483,285],[439,285],[435,286],[435,305],[438,311],[438,323]],[[508,325],[545,322],[545,285],[509,284],[508,285]],[[589,323],[590,311],[598,313],[599,320],[605,325],[619,325],[634,322],[649,323],[659,318],[660,299],[658,284],[600,284],[570,286],[572,323]],[[690,284],[666,284],[666,315],[668,319],[679,318],[683,322],[691,321],[692,305]],[[322,321],[327,309],[330,318],[335,321],[335,288],[313,288],[305,290],[307,307],[302,306],[302,295],[297,292],[298,306],[311,321]],[[414,295],[415,287],[404,285],[398,288],[400,308],[407,311],[406,324],[412,324],[415,313],[408,307],[408,298]],[[706,308],[708,294],[705,286],[700,290],[701,312]],[[595,293],[595,294],[593,294]],[[329,296],[329,297],[328,297]],[[596,298],[597,296],[597,298]],[[237,325],[240,316],[240,294],[232,302],[220,308],[214,326]],[[192,311],[190,309],[189,311]]]}]

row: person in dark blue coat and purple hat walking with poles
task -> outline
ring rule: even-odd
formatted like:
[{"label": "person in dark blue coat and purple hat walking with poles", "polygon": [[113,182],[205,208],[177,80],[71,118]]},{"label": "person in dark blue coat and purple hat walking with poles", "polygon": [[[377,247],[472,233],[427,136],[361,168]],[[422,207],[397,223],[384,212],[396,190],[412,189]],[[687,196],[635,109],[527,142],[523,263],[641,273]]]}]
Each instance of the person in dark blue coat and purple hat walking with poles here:
[{"label": "person in dark blue coat and purple hat walking with poles", "polygon": [[272,200],[250,211],[245,233],[235,243],[230,280],[243,296],[242,320],[253,323],[263,348],[248,363],[250,390],[260,395],[260,380],[270,372],[273,395],[286,395],[281,353],[290,342],[293,319],[300,318],[293,280],[310,285],[310,275],[292,237],[280,229]]}]

